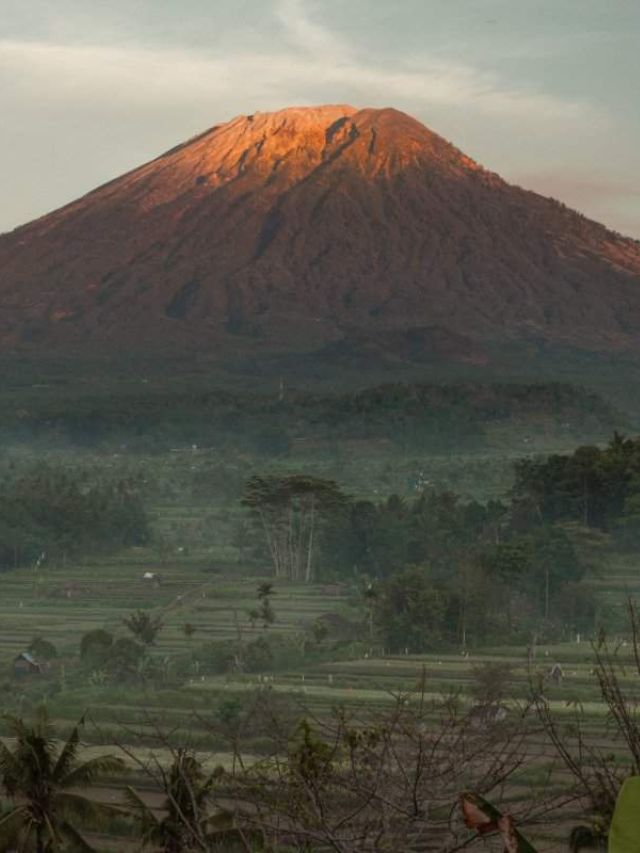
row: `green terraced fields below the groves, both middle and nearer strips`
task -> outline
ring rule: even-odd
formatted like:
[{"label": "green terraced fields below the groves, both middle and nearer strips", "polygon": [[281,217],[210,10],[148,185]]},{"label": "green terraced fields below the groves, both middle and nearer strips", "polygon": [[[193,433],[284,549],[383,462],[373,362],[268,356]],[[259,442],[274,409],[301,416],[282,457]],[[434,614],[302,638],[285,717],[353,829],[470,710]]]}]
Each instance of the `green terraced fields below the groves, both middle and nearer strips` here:
[{"label": "green terraced fields below the groves, both middle and nearer strips", "polygon": [[[155,586],[145,581],[146,571],[159,571],[161,584]],[[3,705],[27,712],[37,702],[38,685],[41,685],[41,698],[62,727],[77,719],[83,710],[89,710],[91,725],[86,730],[89,742],[108,744],[129,739],[141,742],[145,734],[151,742],[155,729],[162,726],[171,730],[174,738],[193,744],[208,761],[226,764],[230,761],[228,745],[212,734],[207,720],[220,703],[229,699],[248,701],[256,691],[286,697],[290,706],[299,708],[301,714],[323,717],[337,706],[365,709],[367,713],[388,709],[399,692],[414,689],[425,678],[429,697],[455,694],[463,705],[470,706],[475,667],[486,661],[502,661],[512,667],[507,700],[511,713],[518,713],[525,703],[530,673],[526,650],[520,647],[475,650],[468,657],[451,652],[376,658],[367,656],[363,649],[352,659],[315,661],[262,674],[194,672],[181,683],[173,683],[168,676],[166,685],[153,687],[144,683],[101,687],[75,681],[78,644],[83,633],[106,628],[124,635],[123,617],[138,608],[162,616],[164,627],[157,647],[151,652],[162,660],[188,655],[192,643],[233,639],[238,630],[247,638],[260,636],[264,629],[252,627],[247,617],[247,611],[255,604],[259,581],[255,577],[234,576],[228,564],[204,558],[202,554],[160,564],[153,551],[144,549],[132,550],[117,559],[7,572],[0,577]],[[591,582],[616,619],[619,611],[622,624],[625,597],[630,592],[640,592],[634,560],[617,558],[611,574],[594,577]],[[319,616],[349,612],[352,607],[348,592],[340,588],[277,585],[274,596],[277,621],[269,630],[295,637],[302,635],[305,626]],[[192,640],[182,630],[185,622],[196,628]],[[34,678],[27,679],[28,684],[16,683],[11,678],[11,661],[34,636],[53,642],[60,662],[41,681]],[[583,640],[538,647],[535,668],[546,671],[555,662],[562,665],[565,678],[561,685],[546,688],[554,710],[569,719],[575,712],[573,703],[580,702],[585,731],[594,742],[611,751],[616,760],[623,760],[622,746],[611,742],[605,709],[597,698],[589,643]],[[639,692],[637,679],[631,672],[625,687],[631,694]],[[148,746],[137,749],[143,754]],[[527,744],[526,766],[512,779],[509,798],[517,806],[528,798],[540,796],[543,789],[548,792],[561,788],[564,782],[566,776],[558,767],[550,745],[543,736],[532,736]],[[104,797],[117,798],[120,784],[114,780],[111,786],[106,786]],[[562,850],[568,829],[579,817],[578,808],[568,808],[553,827],[533,826],[529,834],[541,851]],[[94,840],[99,841],[104,851],[127,849],[124,838],[112,840],[103,836]]]}]

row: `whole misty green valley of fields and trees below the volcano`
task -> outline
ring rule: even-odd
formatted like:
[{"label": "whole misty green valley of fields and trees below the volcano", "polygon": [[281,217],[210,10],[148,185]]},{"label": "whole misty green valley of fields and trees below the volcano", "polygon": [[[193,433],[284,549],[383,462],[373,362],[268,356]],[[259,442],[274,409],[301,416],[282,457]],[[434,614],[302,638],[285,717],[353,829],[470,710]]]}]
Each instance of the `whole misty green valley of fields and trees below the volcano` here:
[{"label": "whole misty green valley of fields and trees below the volcano", "polygon": [[351,853],[356,810],[363,838],[453,849],[464,791],[535,846],[606,832],[530,714],[607,738],[588,640],[630,642],[640,591],[640,441],[610,440],[612,409],[567,386],[90,396],[3,415],[0,686],[62,733],[88,709],[88,748],[123,755],[91,846]]}]

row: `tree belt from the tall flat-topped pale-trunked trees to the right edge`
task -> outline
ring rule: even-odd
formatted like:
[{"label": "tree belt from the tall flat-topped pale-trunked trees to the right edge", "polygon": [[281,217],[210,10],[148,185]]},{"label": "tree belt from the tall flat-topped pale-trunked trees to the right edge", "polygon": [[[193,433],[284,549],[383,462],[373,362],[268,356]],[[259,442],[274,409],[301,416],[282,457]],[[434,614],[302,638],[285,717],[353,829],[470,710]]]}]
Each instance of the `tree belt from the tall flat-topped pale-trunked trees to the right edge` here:
[{"label": "tree belt from the tall flat-topped pale-trunked trees to the right edge", "polygon": [[[434,491],[373,502],[349,497],[330,480],[272,475],[252,478],[244,503],[254,542],[262,543],[257,554],[274,575],[360,585],[369,639],[386,649],[566,638],[592,630],[596,615],[580,583],[586,565],[576,544],[575,522],[596,523],[581,514],[585,480],[575,468],[584,473],[585,458],[600,460],[596,470],[610,475],[597,481],[609,483],[598,492],[602,501],[609,496],[598,523],[606,529],[615,517],[616,529],[628,534],[630,508],[640,506],[640,479],[631,474],[640,440],[619,436],[604,450],[519,463],[505,501]],[[595,501],[592,468],[586,482]]]}]

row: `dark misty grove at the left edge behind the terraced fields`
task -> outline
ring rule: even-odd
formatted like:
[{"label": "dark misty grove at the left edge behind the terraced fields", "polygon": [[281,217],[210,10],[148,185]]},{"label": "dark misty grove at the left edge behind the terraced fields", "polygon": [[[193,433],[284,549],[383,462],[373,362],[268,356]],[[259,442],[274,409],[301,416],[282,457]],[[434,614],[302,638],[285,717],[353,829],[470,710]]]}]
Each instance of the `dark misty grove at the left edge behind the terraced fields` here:
[{"label": "dark misty grove at the left edge behind the terraced fields", "polygon": [[93,470],[4,469],[0,568],[146,542],[149,522],[138,486]]}]

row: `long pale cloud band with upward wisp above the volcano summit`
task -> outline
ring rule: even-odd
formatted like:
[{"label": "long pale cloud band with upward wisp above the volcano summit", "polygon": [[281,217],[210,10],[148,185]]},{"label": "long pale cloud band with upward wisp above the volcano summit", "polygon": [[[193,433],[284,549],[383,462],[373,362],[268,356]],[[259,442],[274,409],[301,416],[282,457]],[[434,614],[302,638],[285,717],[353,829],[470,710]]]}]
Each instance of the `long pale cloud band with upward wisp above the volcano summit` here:
[{"label": "long pale cloud band with upward wisp above the volcano summit", "polygon": [[[302,0],[278,0],[274,15],[288,49],[210,55],[172,47],[0,41],[0,80],[16,98],[117,102],[143,109],[232,100],[248,109],[292,100],[448,105],[526,120],[591,117],[589,104],[515,89],[459,61],[409,58],[379,66],[327,27]],[[337,97],[336,97],[337,96]],[[6,97],[6,96],[5,96]]]}]

